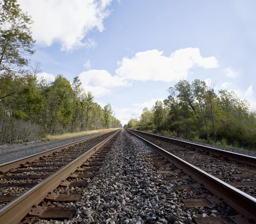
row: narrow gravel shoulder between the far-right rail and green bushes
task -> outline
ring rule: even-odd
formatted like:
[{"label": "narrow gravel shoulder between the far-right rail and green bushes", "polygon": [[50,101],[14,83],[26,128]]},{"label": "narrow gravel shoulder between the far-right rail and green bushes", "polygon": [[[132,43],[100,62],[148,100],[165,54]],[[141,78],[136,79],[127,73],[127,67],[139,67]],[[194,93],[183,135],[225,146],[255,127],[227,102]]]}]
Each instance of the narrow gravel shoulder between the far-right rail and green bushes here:
[{"label": "narrow gravel shoulder between the far-right rail and green bushes", "polygon": [[[146,131],[141,131],[141,132],[149,133],[149,132],[146,132]],[[177,140],[181,140],[181,141],[184,141],[184,142],[191,142],[191,143],[198,144],[198,145],[204,145],[204,146],[207,146],[207,147],[221,149],[221,150],[225,150],[225,151],[229,151],[229,152],[233,152],[233,153],[239,153],[239,154],[243,154],[243,155],[246,155],[246,156],[256,157],[256,153],[253,153],[253,152],[250,152],[250,151],[243,151],[243,150],[234,149],[234,148],[224,148],[224,147],[219,147],[219,146],[215,146],[215,145],[209,145],[209,144],[206,144],[206,143],[189,141],[189,140],[186,140],[186,139],[183,139],[183,138],[180,138],[180,137],[175,137],[175,136],[170,136],[170,135],[163,135],[163,134],[156,134],[156,133],[154,133],[154,134],[158,135],[158,136],[167,137],[169,139],[177,139]]]}]

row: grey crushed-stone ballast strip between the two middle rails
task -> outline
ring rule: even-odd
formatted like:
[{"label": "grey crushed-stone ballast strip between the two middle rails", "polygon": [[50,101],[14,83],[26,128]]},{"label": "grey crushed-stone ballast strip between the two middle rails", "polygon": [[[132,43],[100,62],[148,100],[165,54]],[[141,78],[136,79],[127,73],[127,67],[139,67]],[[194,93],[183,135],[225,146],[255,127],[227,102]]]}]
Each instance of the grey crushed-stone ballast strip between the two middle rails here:
[{"label": "grey crushed-stone ballast strip between the two middle rails", "polygon": [[[157,161],[166,164],[156,169]],[[157,162],[158,163],[158,162]],[[207,198],[208,190],[178,191],[173,187],[195,183],[193,179],[167,181],[162,170],[177,169],[140,139],[122,130],[86,188],[59,187],[55,193],[81,193],[74,203],[52,203],[53,207],[76,207],[70,220],[40,220],[35,224],[193,224],[196,217],[230,215],[224,204],[187,208],[182,200]],[[177,174],[175,174],[177,175]],[[184,175],[184,173],[179,173]]]}]

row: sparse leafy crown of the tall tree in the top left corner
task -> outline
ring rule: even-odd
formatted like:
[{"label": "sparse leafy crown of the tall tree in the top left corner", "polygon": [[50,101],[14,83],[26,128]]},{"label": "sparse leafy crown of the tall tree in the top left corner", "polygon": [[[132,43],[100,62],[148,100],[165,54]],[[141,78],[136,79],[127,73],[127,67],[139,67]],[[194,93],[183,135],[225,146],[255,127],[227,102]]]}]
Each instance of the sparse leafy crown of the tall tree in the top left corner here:
[{"label": "sparse leafy crown of the tall tree in the top left corner", "polygon": [[31,24],[17,0],[0,1],[0,75],[22,73],[29,65],[27,56],[35,53]]}]

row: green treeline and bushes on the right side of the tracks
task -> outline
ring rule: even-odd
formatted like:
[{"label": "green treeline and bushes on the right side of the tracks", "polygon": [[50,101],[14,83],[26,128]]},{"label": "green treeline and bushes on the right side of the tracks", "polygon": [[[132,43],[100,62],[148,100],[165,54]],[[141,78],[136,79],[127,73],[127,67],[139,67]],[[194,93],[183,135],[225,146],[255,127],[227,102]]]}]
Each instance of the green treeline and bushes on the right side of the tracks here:
[{"label": "green treeline and bushes on the right side of the tracks", "polygon": [[181,80],[168,89],[169,96],[143,109],[139,120],[127,128],[167,133],[184,139],[227,147],[256,147],[256,113],[234,91],[215,93],[204,81]]}]

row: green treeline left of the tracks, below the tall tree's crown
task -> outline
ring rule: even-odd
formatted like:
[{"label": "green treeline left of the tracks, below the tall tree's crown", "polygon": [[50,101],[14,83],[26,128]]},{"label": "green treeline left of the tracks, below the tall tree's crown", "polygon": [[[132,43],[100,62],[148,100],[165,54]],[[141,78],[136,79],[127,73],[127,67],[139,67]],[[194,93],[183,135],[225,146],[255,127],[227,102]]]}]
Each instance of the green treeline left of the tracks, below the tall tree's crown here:
[{"label": "green treeline left of the tracks, below the tall tree's crown", "polygon": [[61,134],[121,127],[111,105],[102,108],[78,77],[58,75],[51,83],[36,74],[0,76],[0,142],[34,140]]}]

